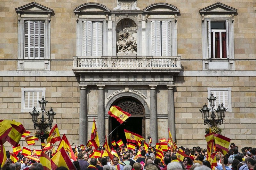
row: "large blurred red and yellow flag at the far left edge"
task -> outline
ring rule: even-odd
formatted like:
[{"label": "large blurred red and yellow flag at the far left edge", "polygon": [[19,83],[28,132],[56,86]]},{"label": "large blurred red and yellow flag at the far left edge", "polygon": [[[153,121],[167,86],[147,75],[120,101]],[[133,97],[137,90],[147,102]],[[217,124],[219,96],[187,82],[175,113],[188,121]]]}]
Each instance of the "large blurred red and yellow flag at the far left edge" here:
[{"label": "large blurred red and yellow flag at the far left edge", "polygon": [[20,142],[22,134],[26,131],[20,122],[14,120],[0,120],[0,142],[4,144],[8,141],[13,146]]}]

